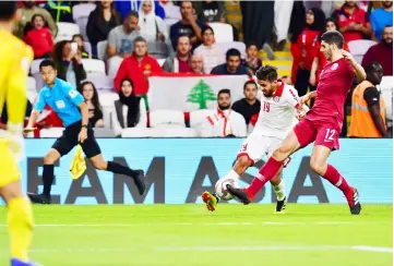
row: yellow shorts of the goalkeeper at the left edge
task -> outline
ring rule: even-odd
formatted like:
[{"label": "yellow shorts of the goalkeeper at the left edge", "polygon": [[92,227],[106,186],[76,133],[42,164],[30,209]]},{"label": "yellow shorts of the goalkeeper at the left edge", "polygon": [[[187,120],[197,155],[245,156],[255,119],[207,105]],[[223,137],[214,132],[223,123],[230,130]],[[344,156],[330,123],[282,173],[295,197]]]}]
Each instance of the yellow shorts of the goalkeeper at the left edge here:
[{"label": "yellow shorts of the goalkeeper at the left edge", "polygon": [[0,189],[17,182],[20,178],[21,171],[16,159],[8,148],[7,142],[0,140]]}]

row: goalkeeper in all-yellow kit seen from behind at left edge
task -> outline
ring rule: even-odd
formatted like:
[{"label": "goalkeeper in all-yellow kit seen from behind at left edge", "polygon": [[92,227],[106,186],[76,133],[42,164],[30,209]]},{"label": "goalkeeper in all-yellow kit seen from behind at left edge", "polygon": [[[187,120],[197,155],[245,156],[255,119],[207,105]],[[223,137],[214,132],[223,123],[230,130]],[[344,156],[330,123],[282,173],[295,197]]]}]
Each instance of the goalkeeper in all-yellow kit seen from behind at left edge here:
[{"label": "goalkeeper in all-yellow kit seen from behind at left edge", "polygon": [[28,249],[33,237],[31,202],[22,192],[17,166],[23,153],[26,77],[33,51],[12,35],[21,16],[17,2],[0,1],[0,110],[7,102],[7,130],[0,130],[0,195],[7,203],[11,266],[32,266]]}]

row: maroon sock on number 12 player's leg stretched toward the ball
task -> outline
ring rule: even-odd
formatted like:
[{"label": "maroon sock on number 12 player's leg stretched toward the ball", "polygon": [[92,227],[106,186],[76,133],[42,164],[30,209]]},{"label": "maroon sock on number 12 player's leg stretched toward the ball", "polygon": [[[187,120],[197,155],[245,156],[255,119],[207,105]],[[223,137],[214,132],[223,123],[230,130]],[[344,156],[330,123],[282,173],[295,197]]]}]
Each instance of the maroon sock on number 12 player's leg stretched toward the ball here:
[{"label": "maroon sock on number 12 player's leg stretched toward the ball", "polygon": [[250,200],[258,194],[266,182],[275,177],[282,166],[283,161],[277,161],[270,157],[265,165],[259,170],[259,173],[254,177],[252,183],[247,188]]}]

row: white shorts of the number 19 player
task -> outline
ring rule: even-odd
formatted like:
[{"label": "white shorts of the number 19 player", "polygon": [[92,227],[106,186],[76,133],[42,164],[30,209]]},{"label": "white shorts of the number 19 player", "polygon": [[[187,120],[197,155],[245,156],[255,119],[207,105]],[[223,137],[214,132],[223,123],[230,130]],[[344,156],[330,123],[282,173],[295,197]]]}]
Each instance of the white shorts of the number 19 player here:
[{"label": "white shorts of the number 19 player", "polygon": [[254,165],[264,156],[270,157],[282,143],[283,140],[280,138],[274,136],[262,136],[260,134],[252,133],[242,143],[237,158],[246,155],[251,160],[252,165]]}]

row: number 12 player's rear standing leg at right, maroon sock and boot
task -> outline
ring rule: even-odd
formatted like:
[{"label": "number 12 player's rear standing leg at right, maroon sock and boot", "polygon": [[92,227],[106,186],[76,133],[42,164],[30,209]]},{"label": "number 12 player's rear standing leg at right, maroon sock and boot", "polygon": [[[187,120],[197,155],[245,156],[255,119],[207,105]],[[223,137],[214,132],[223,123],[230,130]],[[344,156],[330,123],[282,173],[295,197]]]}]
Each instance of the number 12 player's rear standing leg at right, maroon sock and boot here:
[{"label": "number 12 player's rear standing leg at right, maroon sock and boot", "polygon": [[353,215],[359,215],[361,211],[361,204],[358,198],[358,191],[355,188],[351,188],[346,179],[342,177],[333,166],[327,164],[330,154],[330,148],[322,145],[314,146],[310,161],[311,169],[338,188],[347,200],[350,213]]}]

